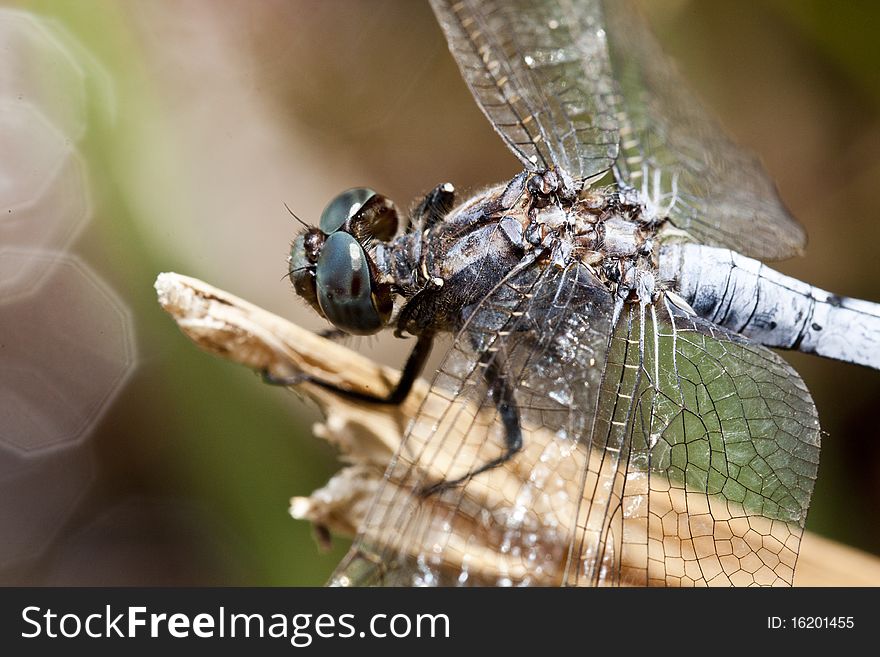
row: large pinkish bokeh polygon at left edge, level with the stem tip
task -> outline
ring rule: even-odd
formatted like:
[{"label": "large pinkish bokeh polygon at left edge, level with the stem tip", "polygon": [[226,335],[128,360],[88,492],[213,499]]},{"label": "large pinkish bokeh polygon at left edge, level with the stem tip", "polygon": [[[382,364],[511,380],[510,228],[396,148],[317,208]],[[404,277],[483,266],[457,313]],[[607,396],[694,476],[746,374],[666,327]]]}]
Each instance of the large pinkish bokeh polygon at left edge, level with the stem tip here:
[{"label": "large pinkish bokeh polygon at left edge, level with the stem tip", "polygon": [[26,455],[77,443],[135,367],[125,304],[78,258],[0,250],[0,280],[48,271],[0,296],[0,449]]}]

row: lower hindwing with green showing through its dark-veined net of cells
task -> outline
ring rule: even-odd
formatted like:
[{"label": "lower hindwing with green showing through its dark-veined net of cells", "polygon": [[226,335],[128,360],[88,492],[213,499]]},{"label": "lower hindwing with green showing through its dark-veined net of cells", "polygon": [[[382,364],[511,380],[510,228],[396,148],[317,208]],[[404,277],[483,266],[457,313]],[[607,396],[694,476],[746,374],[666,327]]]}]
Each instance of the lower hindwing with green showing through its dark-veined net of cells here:
[{"label": "lower hindwing with green showing through its dark-veined net of cells", "polygon": [[819,423],[775,354],[665,301],[626,307],[591,447],[567,583],[792,583]]}]

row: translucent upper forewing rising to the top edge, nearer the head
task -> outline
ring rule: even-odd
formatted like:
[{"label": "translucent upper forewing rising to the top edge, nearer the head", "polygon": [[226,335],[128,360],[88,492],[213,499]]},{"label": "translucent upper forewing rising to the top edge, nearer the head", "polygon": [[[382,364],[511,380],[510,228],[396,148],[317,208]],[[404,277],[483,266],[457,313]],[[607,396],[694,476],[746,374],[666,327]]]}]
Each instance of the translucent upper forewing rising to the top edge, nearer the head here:
[{"label": "translucent upper forewing rising to the top edge, nearer the head", "polygon": [[585,179],[611,167],[617,98],[596,2],[431,5],[471,93],[527,169]]}]

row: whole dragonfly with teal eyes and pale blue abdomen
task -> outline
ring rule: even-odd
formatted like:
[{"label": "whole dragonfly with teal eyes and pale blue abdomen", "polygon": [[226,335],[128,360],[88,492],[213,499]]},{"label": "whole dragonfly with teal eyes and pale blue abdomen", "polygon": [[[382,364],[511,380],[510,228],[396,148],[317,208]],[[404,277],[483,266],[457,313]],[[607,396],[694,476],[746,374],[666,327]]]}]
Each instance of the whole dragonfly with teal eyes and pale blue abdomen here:
[{"label": "whole dragonfly with teal eyes and pale blue abdomen", "polygon": [[447,342],[330,584],[791,585],[820,425],[771,348],[880,369],[880,306],[764,264],[803,229],[628,2],[431,6],[523,170],[350,189],[293,243],[336,332],[415,337],[340,394],[400,404]]}]

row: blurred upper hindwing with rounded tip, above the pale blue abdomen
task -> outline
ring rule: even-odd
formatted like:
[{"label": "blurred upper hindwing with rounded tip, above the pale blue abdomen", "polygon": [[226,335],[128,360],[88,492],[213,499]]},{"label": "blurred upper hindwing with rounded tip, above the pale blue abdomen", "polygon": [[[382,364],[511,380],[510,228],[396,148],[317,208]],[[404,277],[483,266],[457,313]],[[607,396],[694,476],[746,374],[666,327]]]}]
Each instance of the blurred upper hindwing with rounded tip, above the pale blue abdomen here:
[{"label": "blurred upper hindwing with rounded tip, above the pale blue abdomen", "polygon": [[725,136],[631,2],[602,5],[625,112],[619,179],[705,244],[763,259],[799,254],[806,234],[758,159]]}]

